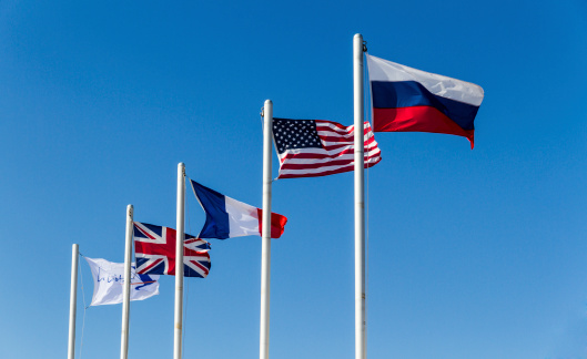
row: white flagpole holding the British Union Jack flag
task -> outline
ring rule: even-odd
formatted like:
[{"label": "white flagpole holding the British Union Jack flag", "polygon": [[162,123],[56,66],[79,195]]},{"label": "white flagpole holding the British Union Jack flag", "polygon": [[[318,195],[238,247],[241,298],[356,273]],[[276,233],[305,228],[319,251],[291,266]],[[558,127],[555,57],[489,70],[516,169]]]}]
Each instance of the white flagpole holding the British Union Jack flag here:
[{"label": "white flagpole holding the British Union Jack flag", "polygon": [[126,206],[126,240],[124,245],[124,287],[122,288],[122,331],[120,340],[120,359],[129,357],[129,315],[131,298],[131,261],[132,261],[132,205]]}]

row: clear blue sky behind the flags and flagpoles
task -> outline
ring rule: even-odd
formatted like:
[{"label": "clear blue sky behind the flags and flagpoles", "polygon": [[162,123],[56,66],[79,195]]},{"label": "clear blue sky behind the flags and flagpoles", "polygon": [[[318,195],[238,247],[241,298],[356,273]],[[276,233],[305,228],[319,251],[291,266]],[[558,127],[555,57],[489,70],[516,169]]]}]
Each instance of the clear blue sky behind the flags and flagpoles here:
[{"label": "clear blue sky behind the flags and flagpoles", "polygon": [[[376,135],[368,357],[587,358],[584,0],[1,1],[0,357],[65,357],[71,245],[122,261],[128,204],[173,226],[179,162],[260,206],[264,100],[351,124],[357,32],[373,55],[485,90],[474,151]],[[354,358],[352,188],[352,174],[273,186],[290,222],[272,247],[272,358]],[[203,219],[189,196],[186,230]],[[257,358],[261,240],[211,242],[210,276],[186,279],[184,357]],[[161,281],[131,306],[131,358],[172,356]],[[121,310],[88,309],[82,358],[118,357]]]}]

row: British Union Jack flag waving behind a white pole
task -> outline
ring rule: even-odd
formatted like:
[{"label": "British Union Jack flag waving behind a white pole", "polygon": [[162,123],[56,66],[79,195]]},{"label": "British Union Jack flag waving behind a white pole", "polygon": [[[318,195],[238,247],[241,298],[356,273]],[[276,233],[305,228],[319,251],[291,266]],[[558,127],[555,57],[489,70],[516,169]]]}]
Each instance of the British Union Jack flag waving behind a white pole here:
[{"label": "British Union Jack flag waving behind a white pole", "polygon": [[[134,256],[138,274],[175,275],[175,236],[173,228],[134,222]],[[185,234],[183,275],[205,278],[210,273],[210,244]]]}]

